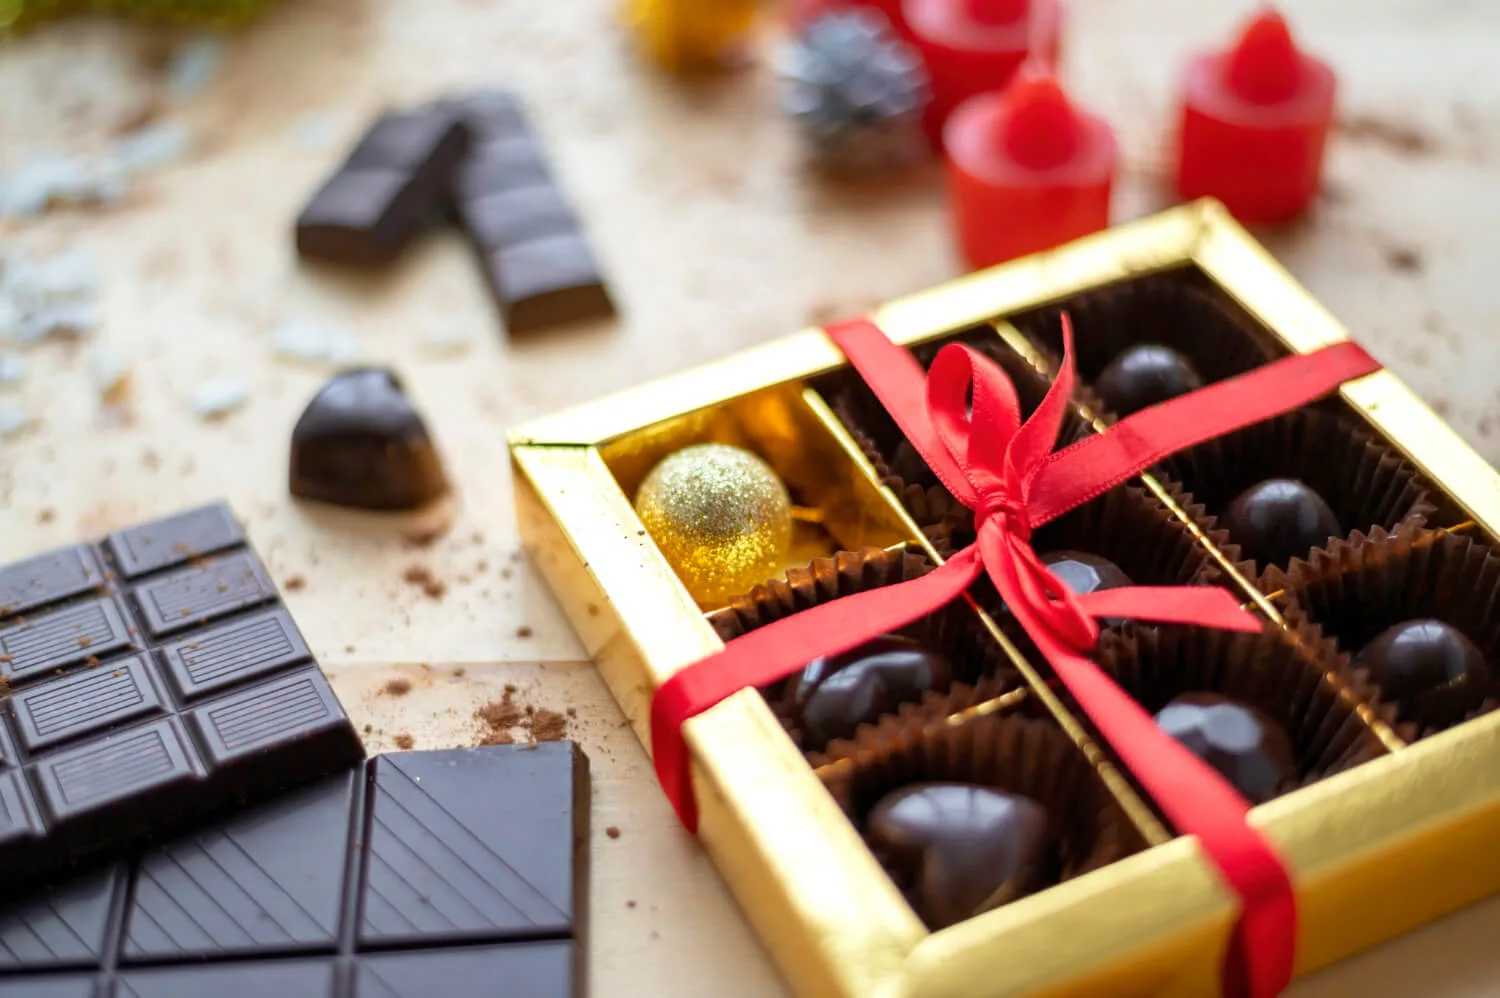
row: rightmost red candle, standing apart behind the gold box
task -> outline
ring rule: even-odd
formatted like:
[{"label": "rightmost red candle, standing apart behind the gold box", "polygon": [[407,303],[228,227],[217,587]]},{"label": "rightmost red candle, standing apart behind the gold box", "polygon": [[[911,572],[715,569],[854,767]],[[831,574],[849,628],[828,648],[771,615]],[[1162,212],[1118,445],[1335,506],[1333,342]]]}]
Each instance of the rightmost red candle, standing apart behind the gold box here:
[{"label": "rightmost red candle, standing apart behind the gold box", "polygon": [[1233,48],[1188,63],[1178,192],[1244,222],[1286,222],[1317,197],[1334,123],[1334,71],[1298,50],[1269,6]]}]

